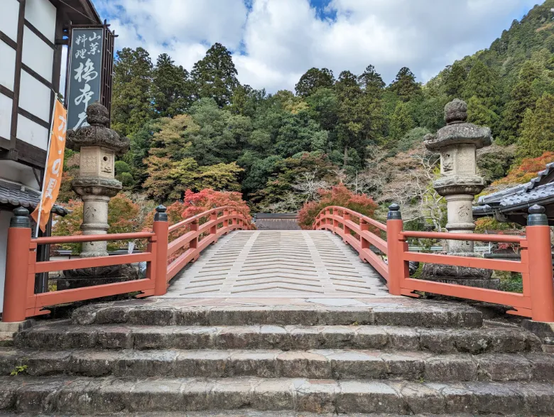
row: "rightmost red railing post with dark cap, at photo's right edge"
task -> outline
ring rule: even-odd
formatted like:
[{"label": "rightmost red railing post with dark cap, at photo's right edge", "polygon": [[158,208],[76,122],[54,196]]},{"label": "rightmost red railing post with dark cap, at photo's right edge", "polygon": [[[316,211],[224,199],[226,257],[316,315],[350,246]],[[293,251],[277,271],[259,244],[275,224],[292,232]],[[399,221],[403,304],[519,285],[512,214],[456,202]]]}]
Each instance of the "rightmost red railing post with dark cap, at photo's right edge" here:
[{"label": "rightmost red railing post with dark cap, at photo's right edge", "polygon": [[550,227],[545,208],[533,205],[527,217],[531,313],[534,321],[554,322],[554,282]]}]

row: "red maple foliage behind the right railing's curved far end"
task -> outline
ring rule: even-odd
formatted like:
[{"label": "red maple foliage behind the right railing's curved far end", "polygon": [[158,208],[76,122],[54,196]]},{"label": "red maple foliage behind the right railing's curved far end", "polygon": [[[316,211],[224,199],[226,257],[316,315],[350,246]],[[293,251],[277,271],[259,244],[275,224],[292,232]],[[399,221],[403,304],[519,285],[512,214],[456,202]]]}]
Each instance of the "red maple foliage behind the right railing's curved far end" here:
[{"label": "red maple foliage behind the right railing's curved far end", "polygon": [[[346,207],[367,217],[373,217],[377,203],[366,194],[356,195],[344,185],[335,185],[330,190],[320,190],[320,200],[310,201],[298,212],[298,224],[305,230],[310,230],[315,217],[329,205]],[[354,220],[354,219],[353,219]]]}]

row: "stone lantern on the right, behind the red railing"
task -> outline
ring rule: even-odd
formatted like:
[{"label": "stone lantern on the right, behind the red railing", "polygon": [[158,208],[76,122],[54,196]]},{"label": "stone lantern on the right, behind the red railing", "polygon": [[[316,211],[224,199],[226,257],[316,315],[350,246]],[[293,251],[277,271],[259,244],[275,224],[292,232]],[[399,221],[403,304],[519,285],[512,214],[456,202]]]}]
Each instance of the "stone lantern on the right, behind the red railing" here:
[{"label": "stone lantern on the right, behind the red railing", "polygon": [[[472,203],[476,194],[485,188],[485,181],[477,174],[477,149],[491,145],[491,129],[467,123],[467,104],[455,99],[445,106],[447,125],[435,135],[425,137],[425,147],[440,153],[440,178],[433,187],[447,203],[446,228],[449,233],[473,233]],[[448,254],[474,256],[473,242],[449,240]],[[427,264],[425,279],[460,283],[483,288],[495,288],[498,281],[491,280],[491,271]]]}]

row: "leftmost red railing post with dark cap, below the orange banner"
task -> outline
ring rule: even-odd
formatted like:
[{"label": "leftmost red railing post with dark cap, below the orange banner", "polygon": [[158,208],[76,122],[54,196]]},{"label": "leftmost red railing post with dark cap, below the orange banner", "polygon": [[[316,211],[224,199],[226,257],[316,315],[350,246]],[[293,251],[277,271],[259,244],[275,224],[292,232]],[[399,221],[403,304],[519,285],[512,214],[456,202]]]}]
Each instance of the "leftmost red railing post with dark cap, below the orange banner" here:
[{"label": "leftmost red railing post with dark cap, below the orange banner", "polygon": [[13,214],[8,229],[8,245],[6,248],[6,281],[4,283],[4,309],[2,311],[2,321],[4,323],[25,320],[27,309],[31,221],[29,220],[29,211],[23,207],[13,210]]}]

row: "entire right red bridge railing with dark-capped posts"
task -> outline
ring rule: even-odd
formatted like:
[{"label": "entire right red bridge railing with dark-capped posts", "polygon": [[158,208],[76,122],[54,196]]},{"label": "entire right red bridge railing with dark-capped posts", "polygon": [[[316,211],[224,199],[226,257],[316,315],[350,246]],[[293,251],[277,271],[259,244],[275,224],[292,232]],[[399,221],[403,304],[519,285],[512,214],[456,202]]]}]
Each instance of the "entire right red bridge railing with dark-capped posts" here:
[{"label": "entire right red bridge railing with dark-capped posts", "polygon": [[[369,262],[379,274],[384,276],[391,294],[418,297],[414,292],[424,291],[485,301],[508,305],[513,308],[509,311],[512,314],[530,317],[536,321],[554,322],[550,227],[548,219],[543,214],[543,207],[533,206],[529,209],[526,236],[404,231],[399,208],[398,205],[391,205],[385,225],[344,207],[325,207],[317,215],[313,229],[327,229],[339,234],[345,243],[358,251],[361,259]],[[380,236],[381,232],[386,233],[386,241]],[[411,252],[408,250],[408,238],[519,244],[521,261]],[[385,263],[372,248],[386,254],[388,263]],[[523,293],[410,278],[408,261],[519,272],[523,279]]]}]

